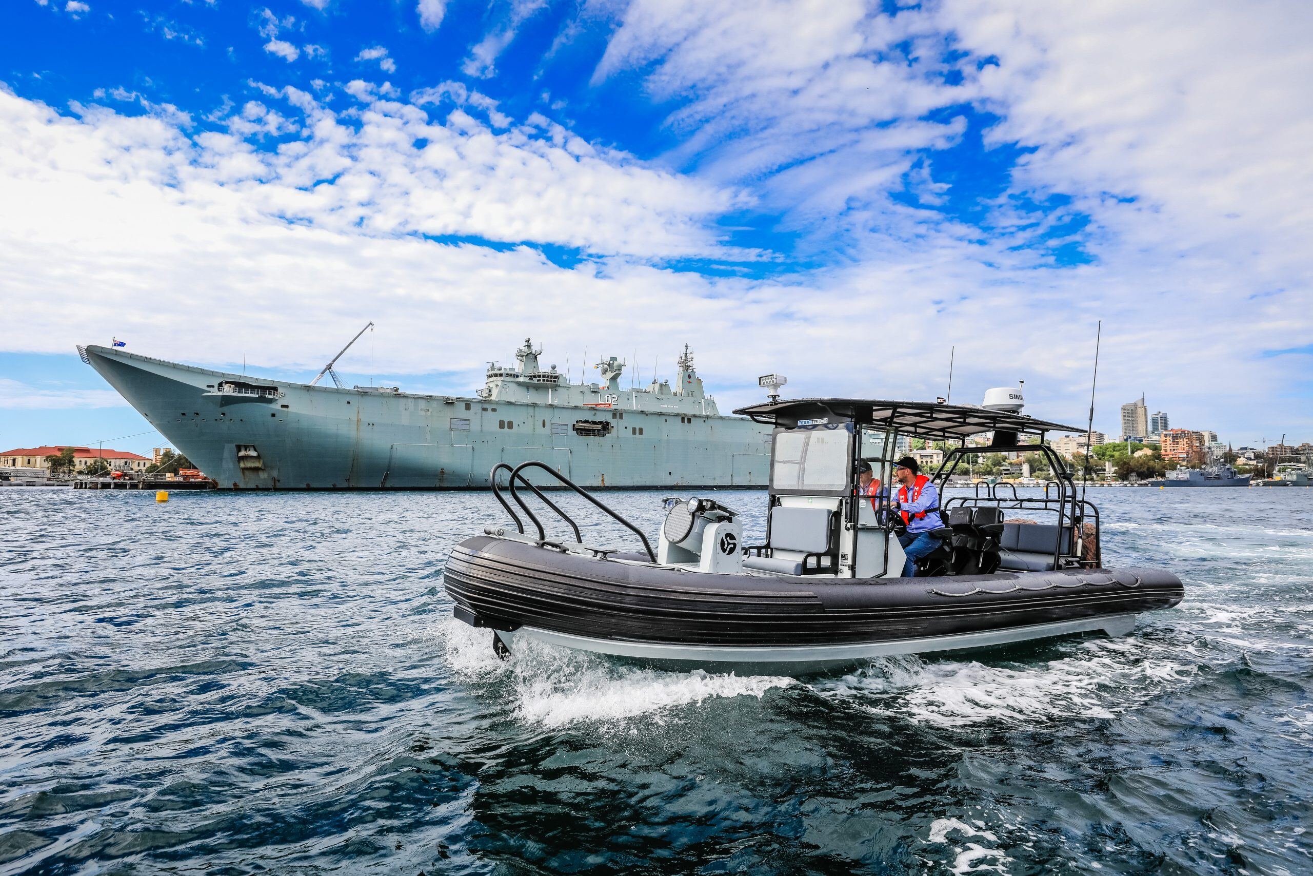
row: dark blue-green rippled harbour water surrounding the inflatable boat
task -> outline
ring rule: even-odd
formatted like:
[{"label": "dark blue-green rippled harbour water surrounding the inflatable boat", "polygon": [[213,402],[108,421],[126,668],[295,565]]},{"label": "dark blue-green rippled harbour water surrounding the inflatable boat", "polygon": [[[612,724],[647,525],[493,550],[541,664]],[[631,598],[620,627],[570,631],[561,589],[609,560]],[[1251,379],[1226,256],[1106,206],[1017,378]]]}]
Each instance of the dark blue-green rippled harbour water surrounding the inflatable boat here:
[{"label": "dark blue-green rippled harbour water surrounding the inflatable boat", "polygon": [[0,490],[0,873],[1313,872],[1313,490],[1090,498],[1179,608],[800,682],[498,661],[486,494]]}]

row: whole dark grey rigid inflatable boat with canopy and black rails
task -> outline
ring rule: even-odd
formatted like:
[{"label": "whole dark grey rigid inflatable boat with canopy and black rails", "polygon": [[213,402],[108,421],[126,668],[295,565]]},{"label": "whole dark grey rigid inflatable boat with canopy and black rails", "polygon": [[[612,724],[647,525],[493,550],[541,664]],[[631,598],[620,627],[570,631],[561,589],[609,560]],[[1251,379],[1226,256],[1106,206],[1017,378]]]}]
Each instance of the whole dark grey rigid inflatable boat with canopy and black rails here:
[{"label": "whole dark grey rigid inflatable boat with canopy and black rails", "polygon": [[[494,493],[512,525],[488,525],[453,548],[445,587],[454,615],[492,630],[503,657],[528,637],[668,667],[797,674],[888,654],[1120,636],[1141,612],[1178,604],[1184,590],[1170,571],[1103,567],[1098,508],[1044,444],[1049,432],[1081,429],[1023,415],[1019,390],[999,395],[990,390],[983,406],[772,399],[735,411],[773,427],[760,545],[743,544],[737,511],[679,498],[666,500],[653,552],[634,524],[546,464],[499,465]],[[909,436],[955,444],[932,478],[941,494],[983,454],[1040,453],[1052,479],[1035,495],[977,482],[941,499],[939,545],[903,578],[902,514],[889,490],[861,489],[857,473],[869,465],[892,483]],[[583,544],[528,473],[574,489],[643,550]],[[534,500],[566,537],[548,536]]]}]

